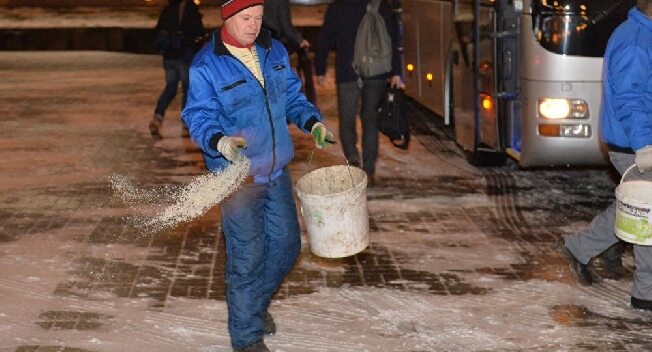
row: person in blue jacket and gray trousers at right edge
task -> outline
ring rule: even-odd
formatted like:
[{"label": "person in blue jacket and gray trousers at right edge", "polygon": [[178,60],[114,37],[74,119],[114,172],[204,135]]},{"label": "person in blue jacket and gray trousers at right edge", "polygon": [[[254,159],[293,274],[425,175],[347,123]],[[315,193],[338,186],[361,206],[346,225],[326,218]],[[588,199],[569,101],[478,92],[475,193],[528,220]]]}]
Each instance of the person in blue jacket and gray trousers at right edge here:
[{"label": "person in blue jacket and gray trousers at right edge", "polygon": [[[646,213],[639,219],[646,226],[652,221],[652,199],[645,199],[650,192],[623,192],[627,188],[623,185],[631,180],[642,180],[637,181],[645,182],[642,187],[647,183],[652,188],[652,0],[637,1],[627,20],[609,39],[604,56],[600,129],[611,163],[623,180],[616,191],[619,199],[598,214],[587,231],[566,238],[564,248],[571,268],[585,285],[593,283],[591,259],[618,242],[616,232],[625,240],[632,238],[623,236],[622,220],[617,226],[617,212],[621,217],[625,213]],[[638,172],[626,172],[632,165]],[[638,199],[632,201],[628,196]],[[652,245],[633,242],[636,270],[630,302],[633,308],[652,311]]]}]

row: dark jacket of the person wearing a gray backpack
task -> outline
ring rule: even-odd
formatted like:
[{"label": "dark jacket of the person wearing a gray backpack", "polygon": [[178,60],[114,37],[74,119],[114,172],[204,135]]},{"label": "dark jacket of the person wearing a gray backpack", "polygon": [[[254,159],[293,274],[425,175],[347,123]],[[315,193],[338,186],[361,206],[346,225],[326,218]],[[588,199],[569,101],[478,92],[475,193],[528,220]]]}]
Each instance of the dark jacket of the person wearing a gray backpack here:
[{"label": "dark jacket of the person wearing a gray backpack", "polygon": [[[353,51],[355,36],[362,17],[367,11],[368,2],[368,0],[336,0],[328,5],[319,42],[316,45],[315,71],[318,76],[326,74],[328,51],[335,48],[335,81],[344,83],[358,79],[353,71]],[[379,12],[385,20],[387,33],[392,40],[392,70],[388,74],[374,78],[401,75],[400,14],[392,11],[388,0],[381,1]]]}]

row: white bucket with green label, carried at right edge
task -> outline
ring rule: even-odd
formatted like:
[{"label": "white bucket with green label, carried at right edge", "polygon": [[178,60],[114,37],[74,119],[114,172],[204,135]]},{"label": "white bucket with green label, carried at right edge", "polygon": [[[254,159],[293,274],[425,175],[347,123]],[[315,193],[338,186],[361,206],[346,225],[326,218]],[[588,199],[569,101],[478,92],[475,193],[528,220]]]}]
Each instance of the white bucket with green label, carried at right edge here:
[{"label": "white bucket with green label, carried at right edge", "polygon": [[616,187],[616,236],[623,241],[652,246],[652,182],[623,182],[630,166]]}]

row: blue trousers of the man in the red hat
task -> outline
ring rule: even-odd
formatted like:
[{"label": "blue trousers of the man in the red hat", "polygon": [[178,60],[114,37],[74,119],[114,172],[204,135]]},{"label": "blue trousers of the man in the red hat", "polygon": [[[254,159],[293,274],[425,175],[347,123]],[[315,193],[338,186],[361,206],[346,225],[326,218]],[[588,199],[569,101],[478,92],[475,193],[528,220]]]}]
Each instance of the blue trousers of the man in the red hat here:
[{"label": "blue trousers of the man in the red hat", "polygon": [[229,334],[238,349],[263,339],[261,314],[301,252],[290,175],[243,186],[221,211]]}]

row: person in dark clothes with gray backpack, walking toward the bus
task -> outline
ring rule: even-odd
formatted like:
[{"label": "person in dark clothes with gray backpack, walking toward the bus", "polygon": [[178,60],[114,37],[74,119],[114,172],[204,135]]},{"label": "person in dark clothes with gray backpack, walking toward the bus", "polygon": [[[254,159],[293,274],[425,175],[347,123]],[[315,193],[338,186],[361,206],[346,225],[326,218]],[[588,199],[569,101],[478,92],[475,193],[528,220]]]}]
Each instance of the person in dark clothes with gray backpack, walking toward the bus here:
[{"label": "person in dark clothes with gray backpack, walking toward the bus", "polygon": [[[387,1],[382,1],[379,12],[392,41],[392,68],[387,74],[370,77],[358,84],[353,69],[355,37],[369,0],[336,0],[328,5],[324,15],[315,53],[315,70],[319,85],[326,84],[328,51],[335,48],[335,83],[339,133],[344,155],[350,165],[362,166],[374,185],[376,159],[378,158],[378,112],[377,107],[385,93],[387,80],[393,87],[403,87],[400,56],[400,12],[392,11]],[[362,158],[357,147],[356,116],[362,120]]]}]

